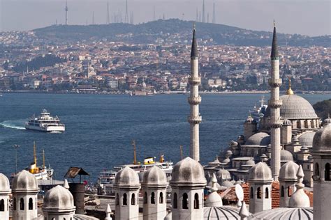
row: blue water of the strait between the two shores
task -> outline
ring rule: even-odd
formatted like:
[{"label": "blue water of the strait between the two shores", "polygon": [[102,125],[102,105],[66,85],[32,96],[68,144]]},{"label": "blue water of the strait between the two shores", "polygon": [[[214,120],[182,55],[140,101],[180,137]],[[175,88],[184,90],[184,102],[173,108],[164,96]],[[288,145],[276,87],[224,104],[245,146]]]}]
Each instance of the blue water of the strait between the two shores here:
[{"label": "blue water of the strait between the two shores", "polygon": [[[200,159],[203,164],[214,159],[231,139],[242,134],[247,118],[260,94],[202,95],[200,113]],[[302,95],[309,102],[325,100],[328,95]],[[267,98],[267,96],[266,96]],[[63,134],[47,134],[24,129],[24,121],[32,114],[47,109],[66,125]],[[178,162],[179,145],[189,155],[189,104],[186,95],[62,95],[5,93],[0,97],[0,172],[15,171],[14,144],[18,168],[33,160],[36,141],[38,163],[54,168],[56,179],[63,179],[70,166],[81,166],[96,180],[99,171],[133,161],[137,143],[138,159],[165,155]]]}]

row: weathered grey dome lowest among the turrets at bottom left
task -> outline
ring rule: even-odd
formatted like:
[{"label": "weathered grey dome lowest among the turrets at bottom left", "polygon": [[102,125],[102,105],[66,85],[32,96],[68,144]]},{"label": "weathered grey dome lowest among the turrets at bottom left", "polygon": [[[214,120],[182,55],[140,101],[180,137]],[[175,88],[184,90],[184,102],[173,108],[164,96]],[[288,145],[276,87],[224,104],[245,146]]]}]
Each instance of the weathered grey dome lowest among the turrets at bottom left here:
[{"label": "weathered grey dome lowest among the turrets at bottom left", "polygon": [[57,185],[56,187],[47,191],[43,210],[75,210],[73,205],[73,195],[68,189]]}]

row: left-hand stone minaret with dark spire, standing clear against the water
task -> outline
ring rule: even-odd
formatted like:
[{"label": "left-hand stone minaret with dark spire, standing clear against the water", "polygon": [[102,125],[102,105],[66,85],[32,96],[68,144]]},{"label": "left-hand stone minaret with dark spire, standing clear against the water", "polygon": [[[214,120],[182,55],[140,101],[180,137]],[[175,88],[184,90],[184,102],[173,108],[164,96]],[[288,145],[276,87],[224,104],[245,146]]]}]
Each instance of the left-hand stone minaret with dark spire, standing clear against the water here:
[{"label": "left-hand stone minaret with dark spire, standing clear against the water", "polygon": [[191,47],[191,77],[189,77],[190,84],[190,97],[189,104],[191,106],[191,113],[188,118],[191,129],[190,138],[190,157],[196,161],[200,161],[199,155],[199,123],[201,122],[201,116],[199,113],[199,104],[201,103],[201,97],[199,95],[199,85],[201,79],[198,73],[198,49],[196,44],[196,26],[193,27],[193,39]]}]

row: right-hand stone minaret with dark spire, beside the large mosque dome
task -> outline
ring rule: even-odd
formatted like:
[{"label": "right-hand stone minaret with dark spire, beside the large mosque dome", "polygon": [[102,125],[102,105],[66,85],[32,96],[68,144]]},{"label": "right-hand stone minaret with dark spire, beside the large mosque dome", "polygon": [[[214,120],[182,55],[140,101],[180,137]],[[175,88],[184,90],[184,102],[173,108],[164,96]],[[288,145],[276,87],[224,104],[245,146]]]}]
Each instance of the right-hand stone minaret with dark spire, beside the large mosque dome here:
[{"label": "right-hand stone minaret with dark spire, beside the large mosque dome", "polygon": [[268,103],[268,107],[270,107],[271,112],[271,168],[274,180],[278,180],[279,169],[281,168],[281,122],[279,120],[279,108],[281,107],[281,100],[279,100],[279,87],[281,86],[281,79],[279,79],[279,54],[277,48],[277,34],[275,23],[270,58],[271,77],[269,79],[269,85],[271,87],[271,97]]}]

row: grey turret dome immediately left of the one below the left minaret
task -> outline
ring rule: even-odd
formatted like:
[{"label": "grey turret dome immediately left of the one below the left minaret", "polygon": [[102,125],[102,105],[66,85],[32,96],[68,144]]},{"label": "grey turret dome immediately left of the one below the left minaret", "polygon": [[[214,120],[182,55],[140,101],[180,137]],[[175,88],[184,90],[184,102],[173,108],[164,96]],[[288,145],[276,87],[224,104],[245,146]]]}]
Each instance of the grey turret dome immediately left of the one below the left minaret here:
[{"label": "grey turret dome immediately left of the one below the left minaret", "polygon": [[144,172],[141,184],[147,187],[166,187],[168,182],[165,172],[161,168],[153,166]]}]

